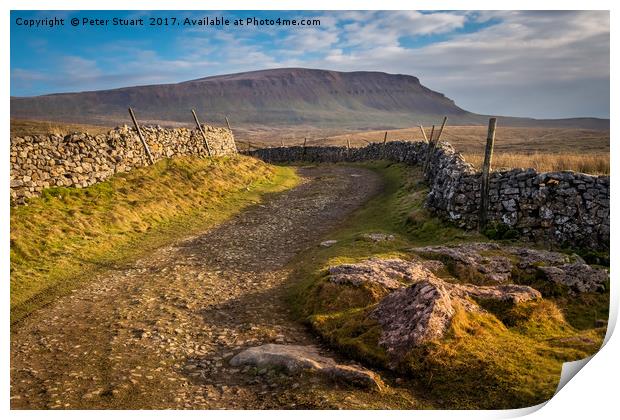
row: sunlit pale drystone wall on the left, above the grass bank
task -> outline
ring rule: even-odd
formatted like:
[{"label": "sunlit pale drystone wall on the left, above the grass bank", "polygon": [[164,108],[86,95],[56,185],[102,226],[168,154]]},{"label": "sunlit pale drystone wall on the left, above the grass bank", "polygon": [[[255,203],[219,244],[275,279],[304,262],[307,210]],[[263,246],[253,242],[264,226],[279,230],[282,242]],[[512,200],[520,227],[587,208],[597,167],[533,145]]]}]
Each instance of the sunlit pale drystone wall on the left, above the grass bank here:
[{"label": "sunlit pale drystone wall on the left, above the grass bank", "polygon": [[[174,156],[207,156],[198,130],[140,127],[155,161]],[[236,153],[230,130],[203,126],[213,155]],[[11,138],[11,201],[23,204],[49,187],[87,187],[118,172],[148,165],[135,129],[107,134]]]}]

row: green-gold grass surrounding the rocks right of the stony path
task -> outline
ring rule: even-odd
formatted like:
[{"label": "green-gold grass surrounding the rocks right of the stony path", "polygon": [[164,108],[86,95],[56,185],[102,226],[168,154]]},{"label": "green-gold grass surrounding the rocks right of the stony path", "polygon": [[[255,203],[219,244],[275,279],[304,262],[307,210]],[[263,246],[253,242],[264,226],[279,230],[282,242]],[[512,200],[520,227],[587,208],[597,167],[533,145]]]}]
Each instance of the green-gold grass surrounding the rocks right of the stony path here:
[{"label": "green-gold grass surrounding the rocks right of the stony path", "polygon": [[[373,286],[339,286],[327,268],[372,256],[410,258],[414,246],[488,240],[432,217],[423,207],[426,186],[417,168],[368,165],[385,180],[384,192],[349,218],[330,248],[316,248],[293,262],[290,301],[295,313],[349,357],[381,368],[380,325],[369,313],[387,293]],[[370,242],[360,234],[384,232],[393,241]],[[454,281],[454,280],[452,280]],[[459,310],[441,340],[412,349],[398,370],[414,394],[437,408],[516,408],[548,400],[564,361],[598,350],[605,328],[607,294],[566,294],[517,306],[480,302],[486,313]]]}]

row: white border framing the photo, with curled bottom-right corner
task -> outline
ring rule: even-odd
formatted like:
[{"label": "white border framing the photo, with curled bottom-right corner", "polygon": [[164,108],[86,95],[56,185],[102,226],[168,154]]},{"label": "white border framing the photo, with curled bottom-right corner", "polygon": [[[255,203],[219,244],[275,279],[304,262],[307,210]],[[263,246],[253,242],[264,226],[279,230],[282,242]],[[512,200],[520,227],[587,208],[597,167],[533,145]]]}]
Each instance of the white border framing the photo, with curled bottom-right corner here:
[{"label": "white border framing the photo, with curled bottom-right corner", "polygon": [[[2,2],[0,8],[3,9],[3,25],[0,29],[2,33],[2,42],[4,44],[2,55],[2,66],[0,69],[2,83],[0,94],[4,98],[2,101],[2,114],[3,118],[0,120],[2,126],[2,132],[5,133],[4,145],[0,148],[0,179],[1,191],[0,202],[2,203],[2,217],[3,221],[0,227],[2,232],[2,242],[0,242],[0,270],[2,273],[3,299],[2,299],[2,313],[4,313],[4,324],[2,328],[2,387],[1,387],[1,404],[4,412],[9,411],[9,156],[8,156],[8,136],[9,136],[9,106],[10,106],[10,38],[9,38],[9,11],[15,10],[372,10],[377,9],[380,6],[382,10],[402,10],[402,9],[431,9],[431,10],[547,10],[547,9],[564,9],[564,10],[611,10],[611,73],[617,74],[617,51],[614,47],[617,45],[616,25],[618,23],[617,10],[618,7],[614,7],[618,2],[613,1],[598,1],[590,0],[587,2],[579,2],[574,0],[565,1],[544,1],[544,0],[522,0],[522,1],[488,1],[488,0],[475,0],[475,1],[397,1],[397,0],[382,0],[381,2],[369,1],[369,0],[344,0],[339,1],[337,4],[331,0],[315,0],[312,2],[301,0],[280,0],[280,1],[257,1],[257,0],[214,0],[214,1],[190,1],[190,0],[134,0],[131,3],[121,0],[93,0],[93,1],[77,1],[77,0],[57,0],[57,1],[41,1],[41,0],[5,0]],[[615,111],[617,110],[617,83],[615,79],[611,80],[611,132],[617,132],[617,120]],[[611,159],[612,159],[612,172],[616,173],[615,162],[618,157],[619,147],[615,145],[615,141],[611,141]],[[615,274],[618,271],[618,263],[616,258],[616,250],[618,245],[618,236],[613,235],[616,220],[616,210],[618,209],[618,199],[612,195],[611,199],[611,214],[612,214],[612,239],[611,239],[611,271]],[[387,415],[390,417],[407,418],[415,416],[416,418],[506,418],[517,417],[520,415],[531,413],[532,418],[539,419],[570,419],[570,418],[611,418],[617,416],[618,413],[618,378],[619,378],[619,363],[618,355],[620,355],[620,344],[615,336],[611,335],[613,325],[617,319],[618,312],[618,287],[616,285],[614,276],[612,275],[612,313],[610,314],[610,331],[606,339],[609,341],[606,345],[587,363],[585,368],[579,372],[575,379],[570,380],[561,391],[552,398],[544,408],[535,411],[532,409],[523,410],[511,410],[511,411],[397,411],[397,412],[382,412],[381,415]],[[610,337],[611,336],[611,337]],[[540,408],[540,407],[537,407]],[[156,416],[156,417],[183,417],[183,418],[204,418],[209,416],[210,418],[231,418],[238,416],[251,415],[260,419],[272,419],[295,416],[301,419],[310,419],[317,414],[322,417],[335,418],[345,415],[347,417],[355,417],[362,419],[370,419],[375,417],[376,412],[371,411],[355,411],[355,412],[317,412],[310,411],[210,411],[208,413],[201,411],[176,411],[176,412],[102,412],[102,411],[48,411],[48,412],[33,412],[33,411],[11,411],[8,413],[14,417],[33,417],[45,415],[51,419],[55,418],[82,418],[85,415],[94,418],[102,418],[108,416],[131,416],[131,417],[144,417],[144,416]]]}]

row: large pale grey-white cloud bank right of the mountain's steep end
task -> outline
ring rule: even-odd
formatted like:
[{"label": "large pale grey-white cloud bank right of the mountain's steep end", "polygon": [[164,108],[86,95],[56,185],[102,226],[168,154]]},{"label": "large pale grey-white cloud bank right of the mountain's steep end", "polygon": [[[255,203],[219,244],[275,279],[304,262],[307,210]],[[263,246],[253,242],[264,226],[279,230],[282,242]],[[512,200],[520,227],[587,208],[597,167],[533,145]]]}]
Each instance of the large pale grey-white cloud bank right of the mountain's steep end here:
[{"label": "large pale grey-white cloud bank right of the mountain's steep end", "polygon": [[[456,99],[457,104],[481,113],[608,115],[607,12],[468,16],[478,22],[495,19],[499,23],[420,48],[406,48],[395,37],[381,35],[378,42],[348,53],[335,48],[312,64],[414,74],[427,86]],[[368,33],[363,36],[375,38]],[[588,86],[602,96],[587,95],[584,100]],[[568,106],[565,102],[571,98],[574,104]],[[575,106],[579,103],[581,106]]]}]

